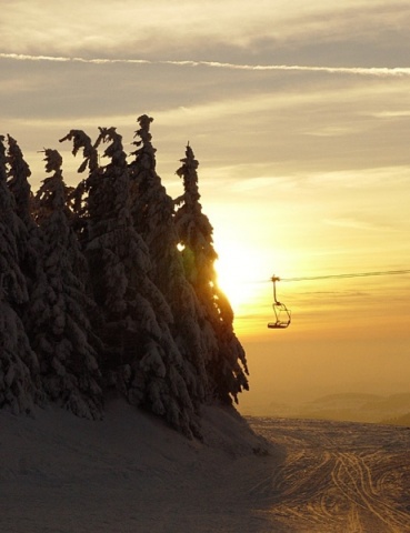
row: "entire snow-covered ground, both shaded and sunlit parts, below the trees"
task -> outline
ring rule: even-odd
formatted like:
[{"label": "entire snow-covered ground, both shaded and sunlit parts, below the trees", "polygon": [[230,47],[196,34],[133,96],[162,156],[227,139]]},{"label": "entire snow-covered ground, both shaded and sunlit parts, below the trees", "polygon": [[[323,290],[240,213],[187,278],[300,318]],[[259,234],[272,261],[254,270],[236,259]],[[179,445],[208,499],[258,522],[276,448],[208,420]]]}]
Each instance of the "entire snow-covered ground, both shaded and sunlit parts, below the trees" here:
[{"label": "entire snow-covered ground, both shaded and sunlit parts, below the trees", "polygon": [[209,409],[203,430],[0,412],[0,532],[410,532],[410,429]]}]

